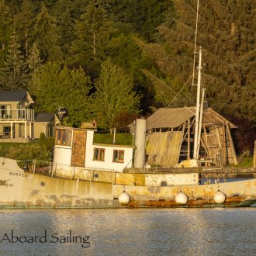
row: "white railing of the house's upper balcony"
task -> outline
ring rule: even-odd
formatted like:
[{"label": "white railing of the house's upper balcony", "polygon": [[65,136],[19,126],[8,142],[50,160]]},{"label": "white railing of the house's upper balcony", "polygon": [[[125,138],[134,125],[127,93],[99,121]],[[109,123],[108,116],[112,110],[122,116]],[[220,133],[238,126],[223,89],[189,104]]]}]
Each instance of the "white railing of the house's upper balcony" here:
[{"label": "white railing of the house's upper balcony", "polygon": [[34,109],[0,109],[0,121],[34,121]]}]

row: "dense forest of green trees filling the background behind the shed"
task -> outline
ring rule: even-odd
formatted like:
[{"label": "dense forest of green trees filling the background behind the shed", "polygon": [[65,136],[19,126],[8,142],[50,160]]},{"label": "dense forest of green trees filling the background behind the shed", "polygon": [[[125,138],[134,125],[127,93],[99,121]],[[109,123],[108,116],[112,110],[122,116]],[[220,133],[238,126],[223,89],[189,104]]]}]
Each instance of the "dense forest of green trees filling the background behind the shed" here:
[{"label": "dense forest of green trees filling the background behind the shed", "polygon": [[[256,140],[255,1],[200,0],[198,46],[209,106]],[[195,0],[0,0],[0,89],[26,89],[66,123],[125,126],[195,105]],[[178,94],[178,95],[177,95]]]}]

